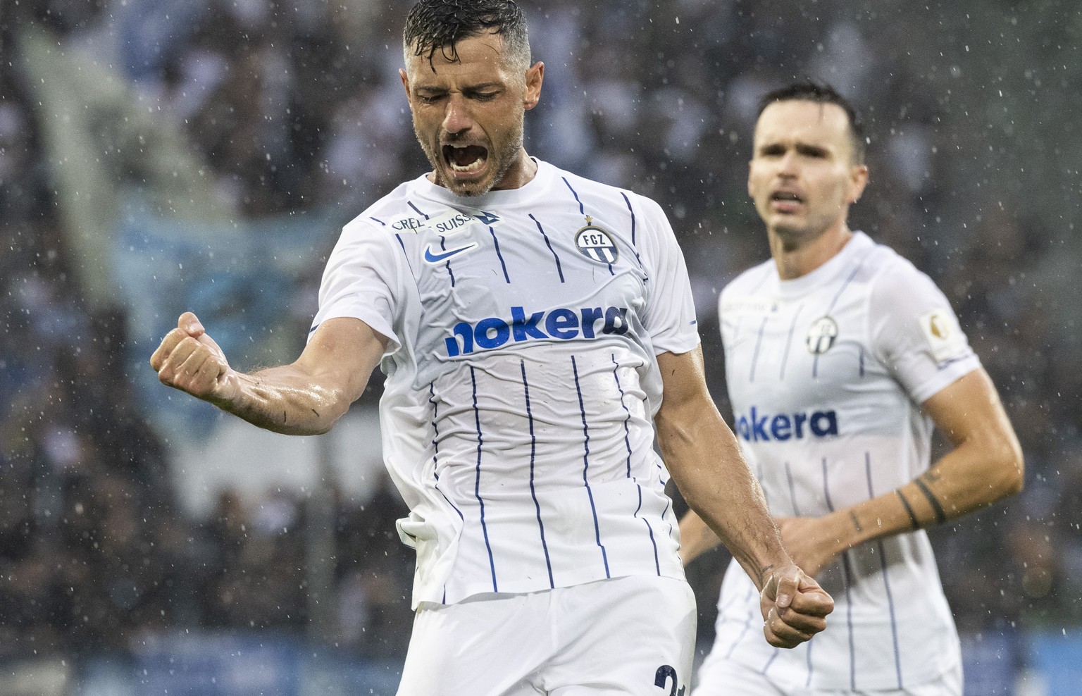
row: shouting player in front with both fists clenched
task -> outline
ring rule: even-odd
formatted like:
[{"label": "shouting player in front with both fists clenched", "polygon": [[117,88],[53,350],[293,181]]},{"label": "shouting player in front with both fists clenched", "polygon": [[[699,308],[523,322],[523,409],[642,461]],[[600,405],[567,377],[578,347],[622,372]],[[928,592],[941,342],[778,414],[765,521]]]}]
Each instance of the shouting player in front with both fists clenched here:
[{"label": "shouting player in front with both fists clenched", "polygon": [[524,149],[544,65],[519,9],[423,0],[404,48],[432,172],[345,226],[301,356],[239,373],[185,313],[150,359],[159,379],[309,434],[382,362],[384,457],[417,549],[404,696],[684,694],[696,609],[670,473],[753,578],[758,640],[821,631],[832,599],[783,550],[710,399],[664,214]]}]

